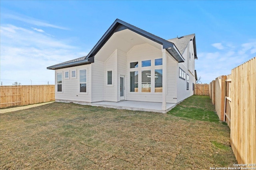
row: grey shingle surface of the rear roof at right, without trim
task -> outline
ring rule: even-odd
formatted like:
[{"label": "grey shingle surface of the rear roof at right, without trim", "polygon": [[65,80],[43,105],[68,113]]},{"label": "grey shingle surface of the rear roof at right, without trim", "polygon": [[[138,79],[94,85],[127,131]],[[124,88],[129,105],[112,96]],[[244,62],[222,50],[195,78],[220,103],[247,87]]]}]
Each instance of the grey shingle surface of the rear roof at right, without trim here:
[{"label": "grey shingle surface of the rear roof at right, without trim", "polygon": [[179,38],[168,39],[167,41],[174,43],[174,45],[178,48],[180,53],[183,54],[189,41],[192,40],[194,37],[195,37],[195,34],[190,34],[190,35],[184,35]]}]

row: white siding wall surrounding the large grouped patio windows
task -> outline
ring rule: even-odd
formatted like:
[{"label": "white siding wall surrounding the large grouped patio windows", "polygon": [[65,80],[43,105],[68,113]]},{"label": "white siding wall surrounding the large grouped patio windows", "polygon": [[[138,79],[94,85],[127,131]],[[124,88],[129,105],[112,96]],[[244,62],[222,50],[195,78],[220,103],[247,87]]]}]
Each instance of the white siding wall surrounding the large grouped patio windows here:
[{"label": "white siding wall surrounding the large grouped patio windows", "polygon": [[[139,65],[141,65],[141,61],[144,60],[151,60],[151,65],[154,65],[154,59],[162,58],[162,51],[160,49],[157,49],[156,47],[153,47],[149,44],[142,44],[134,46],[130,51],[127,53],[127,75],[128,78],[127,86],[126,86],[126,100],[133,100],[133,101],[144,101],[144,102],[162,102],[162,93],[153,93],[154,89],[151,88],[151,93],[145,93],[145,92],[130,92],[130,63],[131,62],[139,62]],[[139,72],[141,72],[141,68],[139,69]],[[148,70],[148,68],[143,68],[143,70]],[[152,69],[152,72],[154,69]],[[140,82],[141,77],[139,76],[139,88],[140,88]],[[154,78],[151,83],[154,83]]]}]

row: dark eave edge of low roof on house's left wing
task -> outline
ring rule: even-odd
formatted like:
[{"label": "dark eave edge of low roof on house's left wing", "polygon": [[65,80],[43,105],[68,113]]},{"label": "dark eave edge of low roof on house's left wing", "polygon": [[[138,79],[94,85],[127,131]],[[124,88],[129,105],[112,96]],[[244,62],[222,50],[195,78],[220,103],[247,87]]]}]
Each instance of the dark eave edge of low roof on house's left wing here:
[{"label": "dark eave edge of low roof on house's left wing", "polygon": [[57,69],[61,69],[61,68],[68,68],[68,67],[80,66],[80,65],[91,64],[91,63],[94,63],[94,57],[91,57],[89,59],[84,59],[81,61],[75,61],[72,63],[57,64],[57,65],[49,66],[49,67],[47,67],[47,69],[57,70]]}]

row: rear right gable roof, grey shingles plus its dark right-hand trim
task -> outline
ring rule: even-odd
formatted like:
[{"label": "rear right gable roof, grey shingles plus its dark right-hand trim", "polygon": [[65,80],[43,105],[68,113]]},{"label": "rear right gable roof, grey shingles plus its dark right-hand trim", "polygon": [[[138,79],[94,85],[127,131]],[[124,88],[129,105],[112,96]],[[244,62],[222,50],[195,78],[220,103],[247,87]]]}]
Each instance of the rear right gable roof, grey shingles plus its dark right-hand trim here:
[{"label": "rear right gable roof, grey shingles plus its dark right-hand trim", "polygon": [[184,35],[182,37],[168,39],[168,41],[174,43],[181,54],[183,54],[184,50],[188,46],[189,41],[193,41],[194,55],[195,55],[195,59],[197,59],[197,57],[196,57],[196,35],[195,34]]}]

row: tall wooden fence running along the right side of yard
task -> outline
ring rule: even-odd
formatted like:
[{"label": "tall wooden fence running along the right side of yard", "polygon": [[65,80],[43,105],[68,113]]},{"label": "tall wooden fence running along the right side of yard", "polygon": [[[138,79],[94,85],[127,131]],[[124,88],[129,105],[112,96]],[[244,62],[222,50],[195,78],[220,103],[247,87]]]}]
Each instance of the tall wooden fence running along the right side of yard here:
[{"label": "tall wooden fence running along the right side of yard", "polygon": [[[239,164],[256,162],[256,57],[210,83],[210,98],[230,127],[230,145]],[[252,166],[247,166],[252,167]],[[255,166],[253,166],[255,167]]]}]

